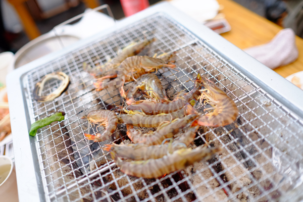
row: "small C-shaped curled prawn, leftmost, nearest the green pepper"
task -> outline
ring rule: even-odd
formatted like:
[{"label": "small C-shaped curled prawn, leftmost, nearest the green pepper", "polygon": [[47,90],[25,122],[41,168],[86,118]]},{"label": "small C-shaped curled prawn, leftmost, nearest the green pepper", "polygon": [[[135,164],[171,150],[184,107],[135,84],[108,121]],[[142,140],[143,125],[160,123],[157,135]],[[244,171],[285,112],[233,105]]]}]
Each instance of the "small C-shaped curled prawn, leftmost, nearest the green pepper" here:
[{"label": "small C-shaped curled prawn, leftmost, nearest the green pepper", "polygon": [[110,110],[93,110],[87,116],[82,117],[82,119],[87,119],[90,123],[100,124],[106,128],[103,134],[84,134],[87,139],[95,142],[107,140],[116,130],[118,124],[117,115]]}]

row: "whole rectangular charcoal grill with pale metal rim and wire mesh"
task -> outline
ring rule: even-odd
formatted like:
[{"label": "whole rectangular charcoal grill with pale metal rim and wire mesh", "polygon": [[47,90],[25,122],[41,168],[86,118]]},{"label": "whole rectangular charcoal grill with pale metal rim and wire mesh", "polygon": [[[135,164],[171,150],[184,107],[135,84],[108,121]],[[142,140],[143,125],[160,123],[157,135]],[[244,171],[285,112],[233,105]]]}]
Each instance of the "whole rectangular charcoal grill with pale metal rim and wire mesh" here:
[{"label": "whole rectangular charcoal grill with pale metal rim and wire mesh", "polygon": [[[222,153],[148,180],[121,173],[103,150],[113,137],[86,140],[84,132],[99,129],[80,118],[122,104],[115,88],[95,91],[83,62],[104,64],[130,42],[153,37],[157,41],[144,54],[177,55],[178,71],[157,73],[171,99],[190,90],[200,72],[235,101],[240,115],[225,127],[201,127],[191,145],[221,146]],[[35,84],[57,71],[70,77],[68,90],[53,102],[36,102]],[[33,61],[7,79],[20,201],[294,201],[301,194],[303,92],[168,3]],[[49,82],[43,93],[59,85]],[[28,135],[31,123],[55,111],[65,111],[66,119]],[[126,141],[124,136],[115,141]]]}]

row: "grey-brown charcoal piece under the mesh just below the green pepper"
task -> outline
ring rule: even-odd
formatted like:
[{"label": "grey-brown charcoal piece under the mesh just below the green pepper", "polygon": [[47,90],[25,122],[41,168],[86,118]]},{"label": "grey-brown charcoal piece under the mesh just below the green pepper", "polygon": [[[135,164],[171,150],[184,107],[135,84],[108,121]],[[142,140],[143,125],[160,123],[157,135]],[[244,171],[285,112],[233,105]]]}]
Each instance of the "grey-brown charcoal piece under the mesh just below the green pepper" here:
[{"label": "grey-brown charcoal piece under the mesh just below the green pepper", "polygon": [[[52,133],[52,135],[49,135]],[[73,184],[76,178],[83,175],[79,169],[77,163],[75,162],[75,157],[73,154],[73,149],[71,147],[72,142],[70,140],[69,133],[64,127],[63,123],[51,123],[48,130],[42,132],[42,137],[40,144],[45,143],[45,147],[41,147],[43,165],[45,167],[44,171],[47,175],[46,181],[51,183],[53,181],[53,186],[56,189],[63,189],[63,184],[67,186]],[[60,162],[57,164],[56,162]],[[51,191],[53,186],[49,187]],[[69,190],[68,197],[70,200],[76,200],[80,195],[84,195],[90,192],[90,187],[88,185],[79,188],[72,188]],[[62,198],[62,201],[67,200],[67,196]],[[92,201],[92,195],[88,195],[85,198],[86,201]]]}]

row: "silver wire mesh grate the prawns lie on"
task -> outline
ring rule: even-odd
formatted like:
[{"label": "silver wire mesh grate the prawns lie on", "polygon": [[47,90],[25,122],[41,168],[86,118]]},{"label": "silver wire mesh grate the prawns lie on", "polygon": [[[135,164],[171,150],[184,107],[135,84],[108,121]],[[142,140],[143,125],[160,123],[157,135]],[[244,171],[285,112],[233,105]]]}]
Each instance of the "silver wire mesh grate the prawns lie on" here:
[{"label": "silver wire mesh grate the prawns lie on", "polygon": [[[93,143],[83,133],[96,133],[81,119],[97,109],[112,109],[123,99],[115,87],[95,91],[92,78],[82,68],[104,64],[132,41],[157,40],[145,48],[148,56],[176,52],[179,70],[157,73],[168,96],[189,91],[197,72],[214,81],[239,109],[236,123],[225,127],[200,127],[192,147],[208,142],[222,152],[161,179],[128,176],[114,166],[103,150],[105,144],[125,140],[121,129],[115,140]],[[71,84],[53,102],[33,99],[34,85],[45,75],[62,71]],[[276,201],[286,193],[291,176],[284,174],[274,158],[285,164],[302,160],[301,120],[236,68],[228,64],[177,22],[157,14],[118,30],[30,71],[25,77],[28,110],[32,122],[64,111],[61,123],[38,131],[36,148],[47,201]],[[48,82],[47,94],[60,85]],[[130,83],[126,86],[129,87]],[[200,107],[199,110],[203,110]]]}]

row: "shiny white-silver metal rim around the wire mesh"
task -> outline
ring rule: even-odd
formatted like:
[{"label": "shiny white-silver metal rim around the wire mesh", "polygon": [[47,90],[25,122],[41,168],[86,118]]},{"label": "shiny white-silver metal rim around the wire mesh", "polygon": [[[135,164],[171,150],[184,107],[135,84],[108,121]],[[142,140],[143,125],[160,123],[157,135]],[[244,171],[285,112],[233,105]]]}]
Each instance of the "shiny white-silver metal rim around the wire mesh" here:
[{"label": "shiny white-silver metal rim around the wire mesh", "polygon": [[[274,71],[265,67],[255,59],[251,58],[250,56],[242,52],[239,48],[235,47],[234,45],[223,39],[221,36],[214,34],[214,32],[208,29],[207,27],[195,22],[188,16],[182,14],[177,9],[172,8],[171,6],[168,5],[168,3],[161,3],[159,5],[151,7],[147,10],[144,10],[143,12],[140,12],[134,16],[131,16],[127,19],[118,22],[115,25],[115,27],[110,28],[107,31],[104,31],[103,33],[97,34],[89,39],[84,39],[72,46],[63,49],[62,51],[49,54],[41,59],[33,61],[32,63],[29,63],[15,70],[13,73],[11,73],[8,76],[8,82],[7,82],[8,95],[9,95],[9,103],[10,103],[12,132],[14,134],[13,140],[14,140],[16,172],[17,172],[20,201],[46,200],[45,192],[44,192],[45,189],[41,181],[42,179],[41,173],[36,172],[40,170],[40,167],[39,164],[37,164],[39,160],[38,160],[38,152],[36,150],[36,145],[35,145],[35,138],[30,137],[28,135],[28,130],[31,125],[32,116],[30,115],[31,112],[27,110],[29,109],[29,106],[28,103],[26,102],[26,93],[24,92],[26,85],[26,83],[24,83],[26,74],[36,67],[51,62],[56,58],[59,58],[65,54],[74,51],[74,49],[80,48],[88,43],[97,40],[100,37],[106,36],[115,30],[126,27],[127,25],[131,25],[132,23],[137,22],[138,20],[148,17],[150,15],[156,14],[157,12],[163,12],[165,13],[165,15],[170,16],[172,19],[177,21],[181,26],[185,27],[185,29],[191,32],[194,36],[196,36],[198,39],[200,39],[205,44],[207,44],[211,49],[213,49],[213,51],[216,54],[218,54],[220,57],[222,57],[232,66],[237,68],[241,72],[241,73],[238,72],[238,74],[241,74],[242,77],[244,77],[248,81],[251,81],[250,82],[251,84],[255,83],[257,86],[256,89],[260,89],[259,88],[260,86],[261,88],[266,90],[264,91],[260,89],[260,92],[263,95],[269,97],[269,99],[276,99],[278,102],[275,103],[277,106],[279,106],[278,108],[283,108],[283,110],[288,111],[296,120],[298,119],[297,116],[301,118],[303,117],[303,105],[301,103],[301,100],[303,98],[303,92],[299,88],[295,87],[293,84],[291,84],[286,79],[276,74]],[[219,82],[218,84],[221,83]],[[186,86],[184,87],[186,88]],[[246,94],[246,96],[239,97],[238,102],[241,102],[241,100],[245,99],[246,97],[252,96],[253,93],[254,92],[251,92]],[[279,104],[279,102],[281,104]],[[295,112],[297,116],[294,113],[290,112],[284,106],[286,106],[292,112]],[[301,122],[300,119],[298,121]],[[213,132],[214,130],[215,129],[212,129],[210,130],[210,132]],[[225,132],[228,133],[227,130]],[[220,137],[217,137],[217,140],[221,141],[223,145],[226,145],[222,142],[222,140],[220,140]],[[235,141],[235,139],[233,139],[233,141]],[[257,140],[252,141],[251,144],[255,144],[256,141]],[[241,147],[241,149],[245,150],[244,147]],[[230,152],[230,155],[232,154],[233,153]],[[221,160],[221,163],[223,162],[223,160]],[[254,161],[253,156],[250,156],[248,154],[247,158],[243,159],[242,162],[247,160]],[[212,166],[214,165],[210,164],[208,168],[211,169]],[[97,175],[100,172],[101,171],[99,170],[95,174]],[[201,172],[202,171],[197,172],[196,175],[200,175]],[[216,171],[212,170],[212,173],[215,174]],[[172,175],[168,175],[164,177],[164,179],[169,178],[171,181],[174,182],[174,179],[171,176]],[[224,185],[224,187],[232,183],[232,182],[224,183],[220,178],[220,173],[215,174],[213,178],[210,178],[206,181],[210,181],[211,179],[218,180],[220,184]],[[183,181],[186,181],[188,184],[190,184],[190,181],[187,178],[184,178]],[[181,180],[173,183],[179,195],[176,196],[175,198],[171,198],[171,200],[177,199],[179,197],[184,199],[184,195],[187,192],[192,191],[192,189],[190,189],[187,190],[187,192],[186,191],[182,192],[177,188],[178,187],[177,185],[181,184],[183,181]],[[155,184],[160,184],[159,182],[160,182],[159,180],[156,180]],[[254,183],[252,183],[252,185],[256,185],[256,184],[258,184],[257,181],[254,181]],[[147,185],[145,184],[144,188],[146,187]],[[168,188],[162,188],[162,191],[159,192],[158,195],[160,194],[165,195],[166,194],[165,190],[168,190]],[[218,190],[215,189],[214,192],[215,191]],[[133,192],[135,193],[134,190]],[[265,191],[263,195],[265,193],[267,192]],[[148,199],[152,199],[151,193],[148,194],[149,197],[146,198],[146,201]],[[134,194],[134,196],[136,196],[136,194]]]}]

